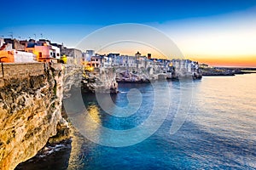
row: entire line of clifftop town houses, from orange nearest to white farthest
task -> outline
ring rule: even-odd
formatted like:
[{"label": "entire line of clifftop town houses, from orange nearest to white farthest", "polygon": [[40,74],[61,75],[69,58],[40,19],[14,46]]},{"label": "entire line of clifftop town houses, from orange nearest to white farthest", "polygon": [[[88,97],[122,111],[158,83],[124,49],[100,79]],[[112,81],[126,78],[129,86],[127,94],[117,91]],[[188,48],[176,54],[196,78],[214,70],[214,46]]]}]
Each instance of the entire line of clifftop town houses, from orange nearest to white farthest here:
[{"label": "entire line of clifftop town houses, from orange nearest to white farthest", "polygon": [[152,68],[154,71],[198,72],[197,62],[189,59],[154,59],[151,54],[122,55],[95,54],[94,50],[83,53],[76,48],[66,48],[63,44],[52,43],[47,39],[38,41],[0,38],[0,62],[59,62],[64,64],[83,64],[85,67],[123,67]]}]

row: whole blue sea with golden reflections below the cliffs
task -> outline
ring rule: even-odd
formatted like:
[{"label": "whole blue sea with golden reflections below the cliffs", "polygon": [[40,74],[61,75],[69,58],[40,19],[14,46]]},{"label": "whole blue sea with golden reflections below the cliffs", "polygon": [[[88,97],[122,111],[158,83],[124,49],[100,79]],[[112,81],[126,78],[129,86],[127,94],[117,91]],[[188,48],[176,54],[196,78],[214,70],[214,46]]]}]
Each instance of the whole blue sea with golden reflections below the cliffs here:
[{"label": "whole blue sea with golden reflections below the cliffs", "polygon": [[71,94],[71,144],[17,169],[256,169],[256,74]]}]

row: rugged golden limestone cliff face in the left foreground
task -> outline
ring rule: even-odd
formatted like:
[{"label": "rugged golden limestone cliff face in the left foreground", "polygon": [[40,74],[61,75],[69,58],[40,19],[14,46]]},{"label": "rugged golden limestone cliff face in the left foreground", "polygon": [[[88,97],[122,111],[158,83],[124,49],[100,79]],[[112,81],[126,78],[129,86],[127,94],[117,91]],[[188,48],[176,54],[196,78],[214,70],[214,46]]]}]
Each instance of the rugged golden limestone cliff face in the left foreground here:
[{"label": "rugged golden limestone cliff face in the left foreground", "polygon": [[[44,65],[44,64],[43,64]],[[0,169],[14,169],[35,156],[56,134],[61,117],[61,65],[44,74],[12,77],[0,88]]]}]

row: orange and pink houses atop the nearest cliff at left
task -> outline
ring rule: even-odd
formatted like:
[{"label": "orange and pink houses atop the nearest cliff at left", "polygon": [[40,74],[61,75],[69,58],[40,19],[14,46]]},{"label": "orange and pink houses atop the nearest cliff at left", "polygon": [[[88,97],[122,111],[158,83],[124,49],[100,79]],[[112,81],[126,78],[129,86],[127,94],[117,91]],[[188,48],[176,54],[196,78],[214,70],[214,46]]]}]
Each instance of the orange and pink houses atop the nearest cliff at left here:
[{"label": "orange and pink houses atop the nearest cliff at left", "polygon": [[78,63],[82,59],[82,51],[66,48],[63,44],[51,43],[46,39],[38,41],[0,38],[0,62],[60,62]]}]

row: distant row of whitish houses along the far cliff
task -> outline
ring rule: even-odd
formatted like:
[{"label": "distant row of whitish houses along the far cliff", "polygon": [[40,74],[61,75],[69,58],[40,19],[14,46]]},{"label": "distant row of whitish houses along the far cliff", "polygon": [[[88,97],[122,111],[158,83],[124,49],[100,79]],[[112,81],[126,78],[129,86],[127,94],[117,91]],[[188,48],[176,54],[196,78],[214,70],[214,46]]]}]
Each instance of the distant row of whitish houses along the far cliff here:
[{"label": "distant row of whitish houses along the far cliff", "polygon": [[[88,54],[86,65],[87,67],[126,67],[132,68],[153,68],[162,72],[199,72],[198,62],[189,59],[154,59],[151,54],[147,56],[137,52],[134,56],[120,54]],[[86,61],[86,60],[85,60]]]}]

